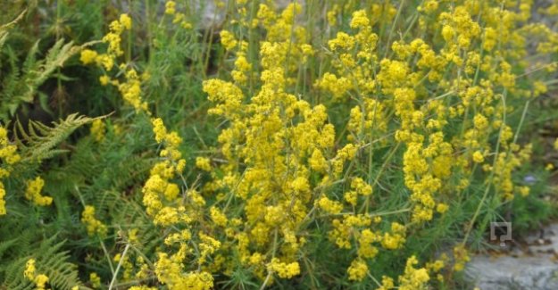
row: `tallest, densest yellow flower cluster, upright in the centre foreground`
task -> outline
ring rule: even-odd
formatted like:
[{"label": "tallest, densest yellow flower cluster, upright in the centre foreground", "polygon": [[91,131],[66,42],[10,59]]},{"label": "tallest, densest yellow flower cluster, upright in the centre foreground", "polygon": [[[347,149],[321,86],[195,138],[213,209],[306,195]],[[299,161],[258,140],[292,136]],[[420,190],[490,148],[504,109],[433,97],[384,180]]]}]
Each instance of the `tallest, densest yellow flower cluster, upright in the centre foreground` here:
[{"label": "tallest, densest yellow flower cluster, upright in the centre foreground", "polygon": [[[234,265],[232,253],[238,253],[243,266],[254,267],[254,273],[262,279],[274,275],[293,278],[300,273],[296,251],[304,246],[305,238],[298,228],[314,206],[312,188],[316,185],[310,178],[312,172],[322,176],[332,170],[325,156],[331,156],[335,130],[327,121],[326,108],[312,107],[287,93],[288,84],[296,81],[291,73],[312,55],[304,29],[294,24],[301,8],[300,4],[289,4],[277,14],[260,4],[258,24],[268,33],[260,46],[262,87],[247,103],[243,86],[252,70],[246,61],[248,46],[229,31],[221,31],[221,44],[229,53],[237,54],[232,73],[235,82],[204,82],[204,91],[214,103],[209,112],[229,120],[229,128],[218,138],[226,159],[221,170],[227,174],[219,176],[211,171],[212,183],[206,188],[233,203],[246,204],[244,213],[228,223],[227,217],[219,214],[225,213],[227,206],[213,205],[212,219],[226,225],[226,236],[233,238],[222,246],[229,249],[223,254],[227,267]],[[242,23],[250,25],[249,21]],[[339,157],[339,163],[346,159]],[[196,163],[204,166],[202,161]],[[244,173],[241,168],[246,168]],[[371,188],[357,183],[359,191],[371,194]],[[325,195],[315,204],[332,212],[342,208]]]}]

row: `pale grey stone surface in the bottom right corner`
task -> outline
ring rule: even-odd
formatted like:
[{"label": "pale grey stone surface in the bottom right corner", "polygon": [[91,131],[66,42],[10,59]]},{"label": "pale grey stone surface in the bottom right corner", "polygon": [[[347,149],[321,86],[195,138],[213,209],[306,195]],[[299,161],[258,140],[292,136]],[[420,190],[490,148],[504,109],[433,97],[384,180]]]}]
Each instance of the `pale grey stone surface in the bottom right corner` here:
[{"label": "pale grey stone surface in the bottom right corner", "polygon": [[465,269],[468,281],[482,290],[557,290],[558,224],[525,241],[501,256],[472,256]]}]

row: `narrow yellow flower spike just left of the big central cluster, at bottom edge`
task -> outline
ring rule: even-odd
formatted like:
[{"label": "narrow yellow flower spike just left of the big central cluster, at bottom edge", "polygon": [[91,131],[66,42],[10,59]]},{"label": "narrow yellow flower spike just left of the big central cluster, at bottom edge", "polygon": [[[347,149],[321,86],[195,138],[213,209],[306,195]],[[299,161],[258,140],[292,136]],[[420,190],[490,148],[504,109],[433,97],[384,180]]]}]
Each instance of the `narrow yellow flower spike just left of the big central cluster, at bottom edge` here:
[{"label": "narrow yellow flower spike just left of the big central cluster, at bottom edge", "polygon": [[[162,284],[171,289],[211,289],[213,278],[209,272],[199,268],[190,271],[185,269],[187,255],[193,250],[187,245],[193,242],[189,228],[195,226],[193,221],[203,220],[204,197],[193,189],[180,195],[180,188],[172,179],[180,177],[183,180],[182,171],[186,161],[179,152],[182,140],[176,132],[169,132],[161,119],[153,119],[152,125],[155,141],[163,145],[160,152],[162,161],[154,165],[142,189],[143,203],[146,205],[147,214],[153,217],[155,225],[171,230],[165,238],[165,244],[169,247],[175,244],[179,246],[178,252],[171,255],[157,253],[157,261],[154,263],[155,275]],[[196,163],[206,170],[211,170],[209,160]],[[226,224],[226,217],[221,212],[212,211],[212,217],[220,224]],[[178,230],[177,227],[183,229]],[[203,231],[200,231],[197,237],[200,242],[195,246],[196,258],[197,264],[202,267],[221,247],[221,243]],[[140,273],[141,271],[138,274]]]}]

